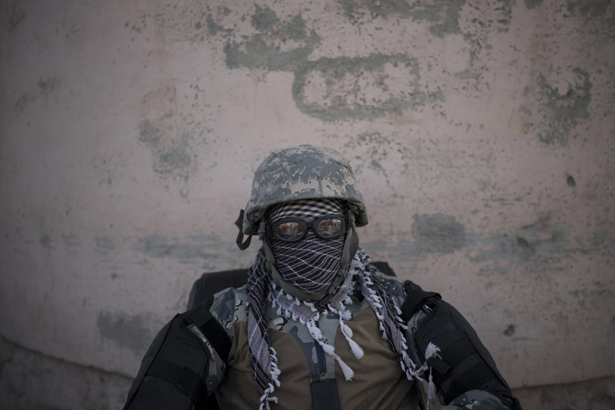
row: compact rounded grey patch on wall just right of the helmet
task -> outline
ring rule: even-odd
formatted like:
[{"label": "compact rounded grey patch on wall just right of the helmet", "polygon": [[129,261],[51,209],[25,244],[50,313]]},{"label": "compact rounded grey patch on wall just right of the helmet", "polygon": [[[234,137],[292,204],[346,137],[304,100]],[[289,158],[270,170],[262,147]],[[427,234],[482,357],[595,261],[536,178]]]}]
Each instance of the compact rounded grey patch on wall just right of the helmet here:
[{"label": "compact rounded grey patch on wall just right of the helmet", "polygon": [[466,242],[466,228],[453,216],[436,213],[415,215],[412,236],[423,253],[452,253]]}]

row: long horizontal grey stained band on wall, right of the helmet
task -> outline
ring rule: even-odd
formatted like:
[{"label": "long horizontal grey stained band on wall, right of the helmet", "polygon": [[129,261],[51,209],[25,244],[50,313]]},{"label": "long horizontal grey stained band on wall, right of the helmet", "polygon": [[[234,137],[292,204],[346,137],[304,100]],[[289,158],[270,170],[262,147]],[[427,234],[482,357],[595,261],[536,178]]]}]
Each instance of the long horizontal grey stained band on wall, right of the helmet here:
[{"label": "long horizontal grey stained band on wall, right of the helmet", "polygon": [[477,267],[478,275],[520,271],[524,275],[534,274],[541,281],[551,280],[550,273],[564,269],[561,266],[567,259],[574,261],[588,254],[613,256],[615,238],[608,231],[589,232],[571,240],[570,230],[569,226],[555,226],[551,217],[545,215],[514,232],[475,235],[465,232],[452,216],[421,215],[415,216],[411,235],[404,231],[391,232],[390,240],[362,246],[374,254],[390,255],[391,260],[410,270],[419,269],[418,262],[429,254],[471,250],[466,256]]}]

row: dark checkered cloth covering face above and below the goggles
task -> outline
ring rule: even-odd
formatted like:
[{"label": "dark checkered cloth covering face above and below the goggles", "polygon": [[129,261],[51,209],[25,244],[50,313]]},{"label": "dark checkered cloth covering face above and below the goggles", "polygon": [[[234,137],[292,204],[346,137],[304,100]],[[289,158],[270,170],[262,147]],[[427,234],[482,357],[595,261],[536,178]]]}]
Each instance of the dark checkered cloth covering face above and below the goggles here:
[{"label": "dark checkered cloth covering face above and below the goggles", "polygon": [[[346,215],[346,206],[338,199],[308,199],[276,205],[266,215],[270,223],[302,216],[316,219],[325,215]],[[268,239],[267,243],[280,276],[304,293],[318,294],[328,290],[341,267],[346,235],[331,240],[320,239],[312,229],[299,242]]]}]

